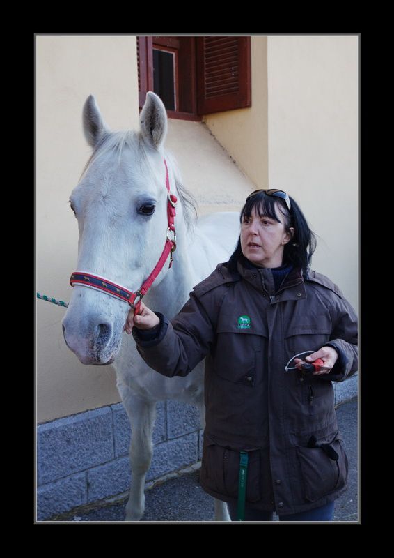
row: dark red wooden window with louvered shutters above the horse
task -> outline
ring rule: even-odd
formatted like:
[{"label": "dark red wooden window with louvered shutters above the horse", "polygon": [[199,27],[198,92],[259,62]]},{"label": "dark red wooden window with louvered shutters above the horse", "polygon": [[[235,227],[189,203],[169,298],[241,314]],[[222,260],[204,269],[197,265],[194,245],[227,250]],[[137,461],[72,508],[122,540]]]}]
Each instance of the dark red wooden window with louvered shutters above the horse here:
[{"label": "dark red wooden window with louvered shutters above the horse", "polygon": [[138,37],[137,56],[140,108],[147,91],[173,118],[251,106],[250,37]]}]

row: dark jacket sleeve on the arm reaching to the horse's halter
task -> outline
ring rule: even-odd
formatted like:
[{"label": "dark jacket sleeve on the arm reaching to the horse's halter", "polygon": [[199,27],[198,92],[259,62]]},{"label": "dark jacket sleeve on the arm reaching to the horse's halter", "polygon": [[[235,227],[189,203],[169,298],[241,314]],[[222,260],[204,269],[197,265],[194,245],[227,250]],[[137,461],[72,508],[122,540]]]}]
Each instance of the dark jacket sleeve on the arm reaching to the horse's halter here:
[{"label": "dark jacket sleeve on the arm reaching to the horse's halter", "polygon": [[214,327],[192,292],[189,301],[171,321],[166,317],[154,340],[143,341],[133,328],[137,350],[150,368],[164,376],[186,376],[210,352]]}]

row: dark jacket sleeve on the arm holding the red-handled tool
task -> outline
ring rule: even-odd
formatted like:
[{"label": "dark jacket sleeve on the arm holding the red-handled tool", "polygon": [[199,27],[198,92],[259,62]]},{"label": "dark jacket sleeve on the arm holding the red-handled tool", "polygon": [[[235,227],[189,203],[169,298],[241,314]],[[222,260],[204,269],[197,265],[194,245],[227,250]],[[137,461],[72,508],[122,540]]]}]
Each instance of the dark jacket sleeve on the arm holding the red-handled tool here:
[{"label": "dark jacket sleeve on the arm holding the red-handled tool", "polygon": [[345,299],[336,300],[335,322],[331,339],[325,343],[338,353],[338,360],[329,374],[320,378],[343,382],[358,370],[358,326],[356,312]]}]

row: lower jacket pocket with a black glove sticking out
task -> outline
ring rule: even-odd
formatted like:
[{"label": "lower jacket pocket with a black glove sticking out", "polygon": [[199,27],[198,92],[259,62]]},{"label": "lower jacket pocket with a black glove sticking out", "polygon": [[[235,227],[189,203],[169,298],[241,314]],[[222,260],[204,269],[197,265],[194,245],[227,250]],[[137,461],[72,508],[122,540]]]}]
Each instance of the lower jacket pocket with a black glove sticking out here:
[{"label": "lower jacket pocket with a black glove sticking out", "polygon": [[309,447],[297,446],[301,468],[304,498],[315,502],[323,496],[340,490],[347,481],[348,462],[342,439],[337,435],[331,442],[313,440]]}]

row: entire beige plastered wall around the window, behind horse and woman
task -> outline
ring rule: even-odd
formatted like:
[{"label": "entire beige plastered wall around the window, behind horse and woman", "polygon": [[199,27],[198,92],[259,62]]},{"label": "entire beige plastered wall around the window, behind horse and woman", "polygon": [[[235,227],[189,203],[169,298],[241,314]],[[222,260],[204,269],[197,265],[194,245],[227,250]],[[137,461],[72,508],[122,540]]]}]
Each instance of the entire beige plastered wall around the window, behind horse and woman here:
[{"label": "entire beige plastered wall around the window, behind horse and woman", "polygon": [[[316,269],[356,306],[357,38],[259,36],[251,47],[252,107],[207,116],[205,124],[171,120],[168,149],[201,214],[239,211],[257,186],[287,188],[321,236]],[[137,89],[134,36],[36,37],[36,287],[43,294],[70,299],[78,232],[68,198],[90,154],[84,100],[95,95],[111,128],[136,128]],[[39,422],[119,401],[113,369],[81,365],[65,347],[64,312],[37,302]]]}]

